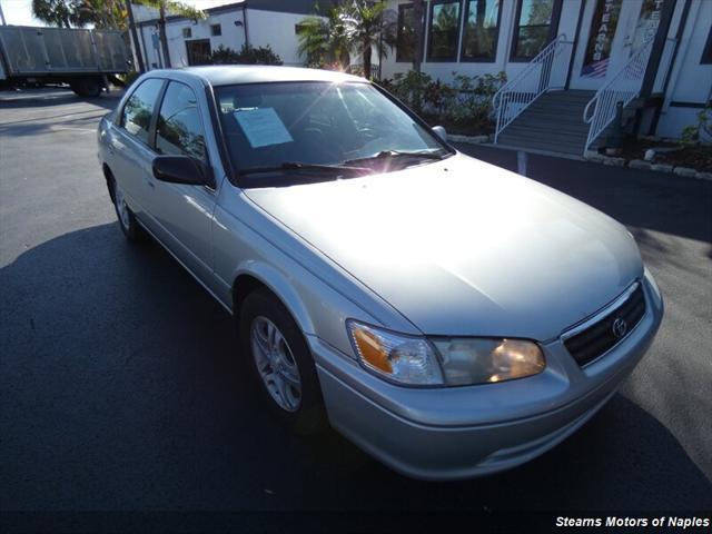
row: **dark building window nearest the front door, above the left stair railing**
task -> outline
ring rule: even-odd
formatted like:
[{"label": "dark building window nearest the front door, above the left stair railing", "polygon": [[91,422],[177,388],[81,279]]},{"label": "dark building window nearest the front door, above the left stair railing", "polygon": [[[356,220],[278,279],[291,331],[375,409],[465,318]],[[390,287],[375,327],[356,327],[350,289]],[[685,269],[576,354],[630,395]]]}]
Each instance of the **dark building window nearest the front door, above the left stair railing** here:
[{"label": "dark building window nearest the front door, above the left stair railing", "polygon": [[520,0],[512,59],[528,61],[554,38],[561,0]]}]

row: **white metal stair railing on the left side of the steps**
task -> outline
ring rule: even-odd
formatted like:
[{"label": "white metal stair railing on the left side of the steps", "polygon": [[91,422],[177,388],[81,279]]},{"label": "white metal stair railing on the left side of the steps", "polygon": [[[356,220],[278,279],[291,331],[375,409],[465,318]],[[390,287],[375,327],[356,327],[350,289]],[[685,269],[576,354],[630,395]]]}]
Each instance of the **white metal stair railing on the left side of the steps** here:
[{"label": "white metal stair railing on the left side of the steps", "polygon": [[507,126],[516,119],[534,100],[552,89],[564,89],[568,76],[568,61],[573,41],[562,33],[528,63],[511,81],[502,86],[492,99],[497,113],[494,142]]}]

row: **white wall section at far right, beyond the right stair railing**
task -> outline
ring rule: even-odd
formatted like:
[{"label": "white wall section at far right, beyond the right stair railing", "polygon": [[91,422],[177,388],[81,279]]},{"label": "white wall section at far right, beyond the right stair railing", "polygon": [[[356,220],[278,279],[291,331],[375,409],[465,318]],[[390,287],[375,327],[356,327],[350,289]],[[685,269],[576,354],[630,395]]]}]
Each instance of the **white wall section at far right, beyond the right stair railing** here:
[{"label": "white wall section at far right, beyond the right stair railing", "polygon": [[672,106],[673,102],[703,105],[712,98],[712,65],[700,63],[710,34],[710,21],[712,1],[693,0],[657,123],[659,136],[679,137],[685,126],[696,122],[699,108],[676,107]]}]

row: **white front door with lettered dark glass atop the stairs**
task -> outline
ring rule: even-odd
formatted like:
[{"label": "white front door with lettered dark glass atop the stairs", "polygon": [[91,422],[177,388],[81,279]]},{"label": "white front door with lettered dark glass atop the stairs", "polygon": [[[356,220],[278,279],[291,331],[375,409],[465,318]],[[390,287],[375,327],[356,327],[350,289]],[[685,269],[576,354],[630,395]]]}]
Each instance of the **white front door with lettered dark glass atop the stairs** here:
[{"label": "white front door with lettered dark glass atop the stairs", "polygon": [[657,30],[663,0],[594,0],[584,9],[571,89],[596,90]]}]

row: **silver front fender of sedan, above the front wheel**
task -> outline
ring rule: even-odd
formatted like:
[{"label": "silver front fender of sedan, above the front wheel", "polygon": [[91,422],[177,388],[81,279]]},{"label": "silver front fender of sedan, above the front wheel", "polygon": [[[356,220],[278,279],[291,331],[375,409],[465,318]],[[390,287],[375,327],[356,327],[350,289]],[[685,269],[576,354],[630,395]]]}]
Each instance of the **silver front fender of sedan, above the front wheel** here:
[{"label": "silver front fender of sedan, above the front wheel", "polygon": [[225,180],[212,228],[216,285],[220,288],[216,293],[224,303],[231,306],[235,279],[251,275],[273,288],[306,335],[318,332],[350,357],[345,326],[349,317],[419,334],[378,297],[358,288],[338,266],[316,257],[298,237],[277,225]]}]

